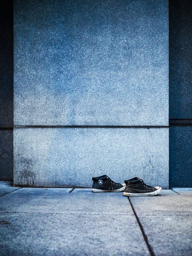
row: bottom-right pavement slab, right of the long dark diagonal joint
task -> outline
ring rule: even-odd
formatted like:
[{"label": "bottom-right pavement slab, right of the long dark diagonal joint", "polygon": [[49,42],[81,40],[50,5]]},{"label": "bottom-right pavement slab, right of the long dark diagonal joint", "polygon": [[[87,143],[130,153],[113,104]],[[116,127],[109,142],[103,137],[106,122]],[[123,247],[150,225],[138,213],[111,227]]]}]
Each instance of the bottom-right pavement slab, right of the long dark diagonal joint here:
[{"label": "bottom-right pavement slab, right of the long dark diagonal joint", "polygon": [[155,256],[192,255],[192,216],[139,216],[139,220]]}]

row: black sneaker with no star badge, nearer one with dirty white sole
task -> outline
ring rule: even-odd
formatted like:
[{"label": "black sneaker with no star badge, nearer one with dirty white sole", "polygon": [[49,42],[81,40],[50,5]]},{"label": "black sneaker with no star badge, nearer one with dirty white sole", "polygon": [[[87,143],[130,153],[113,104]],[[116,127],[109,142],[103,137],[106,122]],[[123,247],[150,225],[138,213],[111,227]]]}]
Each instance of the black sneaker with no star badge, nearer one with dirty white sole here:
[{"label": "black sneaker with no star badge, nearer one with dirty white sole", "polygon": [[162,191],[161,187],[146,185],[143,180],[138,177],[125,180],[125,184],[124,196],[155,196]]}]

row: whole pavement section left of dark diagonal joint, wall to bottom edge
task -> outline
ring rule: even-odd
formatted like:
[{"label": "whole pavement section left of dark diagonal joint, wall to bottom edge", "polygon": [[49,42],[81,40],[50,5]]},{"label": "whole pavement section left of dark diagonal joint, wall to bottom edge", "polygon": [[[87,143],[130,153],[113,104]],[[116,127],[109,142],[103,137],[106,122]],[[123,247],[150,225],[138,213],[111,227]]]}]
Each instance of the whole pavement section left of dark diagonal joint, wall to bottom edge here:
[{"label": "whole pavement section left of dark diagonal joint, wall to bottom edge", "polygon": [[122,193],[21,188],[0,198],[0,255],[150,256]]}]

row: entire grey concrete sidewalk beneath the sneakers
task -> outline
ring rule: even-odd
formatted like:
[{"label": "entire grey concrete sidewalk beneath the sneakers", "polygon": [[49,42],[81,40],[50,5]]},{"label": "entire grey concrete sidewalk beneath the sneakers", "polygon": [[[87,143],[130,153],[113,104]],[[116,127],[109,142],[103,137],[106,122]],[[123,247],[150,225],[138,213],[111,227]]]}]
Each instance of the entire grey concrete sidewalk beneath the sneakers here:
[{"label": "entire grey concrete sidewalk beneath the sneakers", "polygon": [[0,182],[0,255],[191,256],[192,188],[152,197]]}]

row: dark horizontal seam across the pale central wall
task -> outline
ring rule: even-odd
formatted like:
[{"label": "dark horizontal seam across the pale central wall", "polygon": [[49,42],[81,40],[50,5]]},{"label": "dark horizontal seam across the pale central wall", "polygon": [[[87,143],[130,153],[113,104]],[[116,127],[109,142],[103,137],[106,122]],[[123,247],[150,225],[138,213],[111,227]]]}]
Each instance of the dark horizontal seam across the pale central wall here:
[{"label": "dark horizontal seam across the pale central wall", "polygon": [[14,128],[168,128],[168,126],[14,126]]}]

